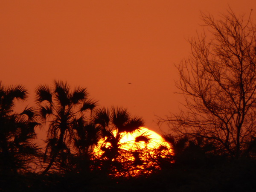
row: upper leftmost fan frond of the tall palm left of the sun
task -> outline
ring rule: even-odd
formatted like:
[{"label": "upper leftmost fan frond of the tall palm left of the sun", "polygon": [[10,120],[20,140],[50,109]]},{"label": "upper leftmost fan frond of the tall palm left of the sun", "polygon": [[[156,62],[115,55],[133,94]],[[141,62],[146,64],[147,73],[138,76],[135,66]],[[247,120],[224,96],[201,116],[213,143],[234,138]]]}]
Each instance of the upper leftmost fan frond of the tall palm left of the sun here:
[{"label": "upper leftmost fan frond of the tall palm left of the sun", "polygon": [[52,103],[52,92],[47,85],[40,85],[35,89],[35,101],[37,104],[47,101]]}]

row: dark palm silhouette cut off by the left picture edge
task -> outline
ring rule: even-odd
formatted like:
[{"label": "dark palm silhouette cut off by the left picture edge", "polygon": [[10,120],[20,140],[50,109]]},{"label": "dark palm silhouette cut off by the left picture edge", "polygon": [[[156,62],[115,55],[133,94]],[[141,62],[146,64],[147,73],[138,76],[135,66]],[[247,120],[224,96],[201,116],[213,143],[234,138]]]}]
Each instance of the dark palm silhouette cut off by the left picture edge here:
[{"label": "dark palm silhouette cut off by the left picture edge", "polygon": [[26,107],[15,113],[15,102],[26,101],[28,91],[21,85],[4,87],[0,82],[0,172],[3,175],[29,169],[39,152],[35,139],[35,110]]}]

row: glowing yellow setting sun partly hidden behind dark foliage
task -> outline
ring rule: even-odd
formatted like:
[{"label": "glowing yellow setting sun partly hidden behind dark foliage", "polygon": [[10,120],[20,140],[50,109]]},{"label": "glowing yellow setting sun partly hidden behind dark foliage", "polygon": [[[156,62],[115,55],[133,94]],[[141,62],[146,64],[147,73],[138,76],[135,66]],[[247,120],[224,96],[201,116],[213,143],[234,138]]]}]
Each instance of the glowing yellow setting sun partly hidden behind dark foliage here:
[{"label": "glowing yellow setting sun partly hidden behind dark foliage", "polygon": [[[113,135],[116,137],[116,130]],[[155,170],[159,170],[160,163],[169,155],[172,155],[171,146],[154,131],[148,128],[140,127],[132,133],[123,132],[120,134],[121,139],[118,143],[117,158],[111,159],[112,162],[125,165],[125,169],[111,173],[114,176],[138,176],[141,173],[151,174]],[[113,152],[111,143],[108,139],[99,140],[98,145],[94,148],[96,158],[104,159],[108,156],[108,152]]]}]

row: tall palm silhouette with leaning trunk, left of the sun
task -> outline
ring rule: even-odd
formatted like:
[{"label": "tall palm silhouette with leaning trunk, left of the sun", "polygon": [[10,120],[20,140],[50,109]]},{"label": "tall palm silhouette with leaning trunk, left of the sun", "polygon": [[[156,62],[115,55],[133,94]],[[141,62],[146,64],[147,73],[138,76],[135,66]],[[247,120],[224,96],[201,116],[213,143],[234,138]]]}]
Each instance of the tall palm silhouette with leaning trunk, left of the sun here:
[{"label": "tall palm silhouette with leaning trunk, left of the sun", "polygon": [[42,173],[44,175],[55,160],[61,163],[60,166],[67,163],[77,130],[75,125],[84,118],[85,111],[93,111],[96,102],[88,99],[86,88],[75,87],[71,91],[63,81],[54,81],[53,87],[37,87],[36,102],[40,121],[49,123],[44,155],[44,161],[49,159],[49,164]]}]

